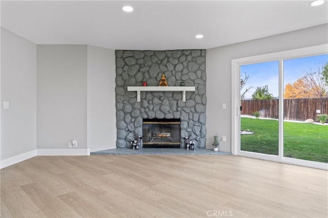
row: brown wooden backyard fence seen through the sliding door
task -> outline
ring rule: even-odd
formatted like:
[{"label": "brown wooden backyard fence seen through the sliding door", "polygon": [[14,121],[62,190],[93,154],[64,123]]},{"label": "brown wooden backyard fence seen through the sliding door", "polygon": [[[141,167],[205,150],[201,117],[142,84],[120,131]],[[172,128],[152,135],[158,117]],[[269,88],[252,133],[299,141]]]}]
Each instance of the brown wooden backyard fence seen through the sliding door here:
[{"label": "brown wooden backyard fence seen through the sliding door", "polygon": [[[251,115],[259,111],[260,117],[278,119],[278,99],[242,100],[241,115]],[[293,98],[283,100],[284,120],[305,121],[316,120],[317,110],[320,114],[328,114],[328,97],[325,98]]]}]

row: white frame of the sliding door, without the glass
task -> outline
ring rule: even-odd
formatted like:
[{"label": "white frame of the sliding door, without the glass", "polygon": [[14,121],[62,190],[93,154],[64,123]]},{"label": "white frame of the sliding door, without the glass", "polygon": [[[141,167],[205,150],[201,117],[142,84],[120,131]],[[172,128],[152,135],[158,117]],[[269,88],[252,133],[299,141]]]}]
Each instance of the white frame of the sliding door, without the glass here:
[{"label": "white frame of the sliding door, without the glass", "polygon": [[[243,57],[231,60],[231,152],[233,155],[245,156],[281,163],[296,164],[328,170],[327,163],[283,157],[283,60],[328,53],[328,44],[275,52],[270,54]],[[246,64],[279,61],[279,152],[278,155],[259,154],[240,150],[240,66]]]}]

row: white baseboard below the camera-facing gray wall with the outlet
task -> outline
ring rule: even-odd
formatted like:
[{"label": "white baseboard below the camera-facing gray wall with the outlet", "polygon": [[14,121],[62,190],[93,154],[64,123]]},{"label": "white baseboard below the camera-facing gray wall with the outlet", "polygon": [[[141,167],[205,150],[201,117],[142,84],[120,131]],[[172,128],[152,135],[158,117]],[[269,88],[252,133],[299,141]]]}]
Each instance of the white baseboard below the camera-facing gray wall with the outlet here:
[{"label": "white baseboard below the camera-facing gray wall with the outlet", "polygon": [[37,149],[37,156],[84,156],[84,155],[90,155],[90,148]]}]

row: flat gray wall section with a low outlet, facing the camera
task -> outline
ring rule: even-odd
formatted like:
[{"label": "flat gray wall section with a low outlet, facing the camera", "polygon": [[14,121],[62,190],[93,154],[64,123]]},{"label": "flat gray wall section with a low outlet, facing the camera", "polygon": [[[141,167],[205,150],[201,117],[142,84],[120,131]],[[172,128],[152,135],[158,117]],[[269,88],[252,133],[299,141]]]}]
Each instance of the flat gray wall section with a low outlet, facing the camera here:
[{"label": "flat gray wall section with a low outlet, facing the camera", "polygon": [[87,46],[37,45],[37,148],[87,148]]}]

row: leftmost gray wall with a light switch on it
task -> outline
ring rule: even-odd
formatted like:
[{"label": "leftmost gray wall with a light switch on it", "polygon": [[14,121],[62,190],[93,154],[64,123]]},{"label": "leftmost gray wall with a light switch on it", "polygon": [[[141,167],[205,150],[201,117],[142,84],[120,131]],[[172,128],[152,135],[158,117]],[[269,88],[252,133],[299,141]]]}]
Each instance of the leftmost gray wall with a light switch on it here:
[{"label": "leftmost gray wall with a light switch on it", "polygon": [[[9,101],[8,110],[3,101]],[[1,28],[1,160],[36,149],[36,45]]]}]

